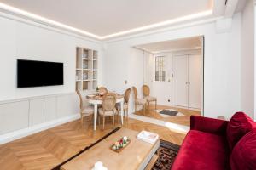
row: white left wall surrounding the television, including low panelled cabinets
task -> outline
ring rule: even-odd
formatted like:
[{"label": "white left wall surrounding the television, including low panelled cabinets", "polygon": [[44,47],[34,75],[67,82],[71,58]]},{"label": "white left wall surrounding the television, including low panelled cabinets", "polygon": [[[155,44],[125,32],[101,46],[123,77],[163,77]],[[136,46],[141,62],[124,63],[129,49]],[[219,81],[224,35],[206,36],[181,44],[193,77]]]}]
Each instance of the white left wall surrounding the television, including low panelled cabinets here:
[{"label": "white left wall surrounding the television, including low panelled cabinets", "polygon": [[[0,17],[0,135],[79,113],[74,94],[76,47],[99,51],[101,83],[102,42]],[[64,63],[64,85],[16,88],[17,59]]]}]

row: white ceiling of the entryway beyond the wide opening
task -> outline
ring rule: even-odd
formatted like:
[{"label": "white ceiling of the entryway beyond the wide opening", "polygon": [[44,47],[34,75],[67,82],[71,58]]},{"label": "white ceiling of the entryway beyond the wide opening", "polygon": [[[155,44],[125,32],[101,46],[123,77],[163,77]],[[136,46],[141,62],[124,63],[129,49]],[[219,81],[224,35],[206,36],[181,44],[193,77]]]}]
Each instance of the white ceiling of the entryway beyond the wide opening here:
[{"label": "white ceiling of the entryway beyond the wide opening", "polygon": [[136,48],[140,48],[151,53],[198,49],[201,48],[201,37],[188,37],[166,42],[142,44],[137,45]]}]

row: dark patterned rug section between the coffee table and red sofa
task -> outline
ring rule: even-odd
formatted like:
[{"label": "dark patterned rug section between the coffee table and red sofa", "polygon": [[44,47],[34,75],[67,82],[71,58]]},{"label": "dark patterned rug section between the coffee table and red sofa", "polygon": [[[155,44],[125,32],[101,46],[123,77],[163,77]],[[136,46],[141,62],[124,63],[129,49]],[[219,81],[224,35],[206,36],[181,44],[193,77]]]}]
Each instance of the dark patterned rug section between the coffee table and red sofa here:
[{"label": "dark patterned rug section between the coffee table and red sofa", "polygon": [[180,146],[160,139],[160,157],[152,170],[170,170]]}]

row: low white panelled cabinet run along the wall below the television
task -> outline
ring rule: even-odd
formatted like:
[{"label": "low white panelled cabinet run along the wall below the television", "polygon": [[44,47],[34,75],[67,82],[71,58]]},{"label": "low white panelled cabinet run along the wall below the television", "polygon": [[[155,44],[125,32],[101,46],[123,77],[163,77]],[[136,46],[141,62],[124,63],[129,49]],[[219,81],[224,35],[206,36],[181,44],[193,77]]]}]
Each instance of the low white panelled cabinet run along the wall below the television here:
[{"label": "low white panelled cabinet run along the wall below the television", "polygon": [[79,118],[77,94],[55,94],[0,103],[0,144]]}]

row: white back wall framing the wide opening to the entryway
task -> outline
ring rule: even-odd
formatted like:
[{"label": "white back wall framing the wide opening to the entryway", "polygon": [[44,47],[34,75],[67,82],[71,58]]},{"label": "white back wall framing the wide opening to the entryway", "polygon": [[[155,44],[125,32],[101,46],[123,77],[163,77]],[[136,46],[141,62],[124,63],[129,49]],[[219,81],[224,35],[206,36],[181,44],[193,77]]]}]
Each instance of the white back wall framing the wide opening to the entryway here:
[{"label": "white back wall framing the wide opening to the entryway", "polygon": [[[235,111],[241,109],[240,14],[234,16],[230,31],[224,33],[218,34],[215,23],[212,22],[201,26],[190,26],[107,42],[103,59],[103,84],[118,91],[132,85],[141,88],[143,84],[141,74],[143,73],[140,73],[138,67],[142,61],[135,56],[136,49],[132,48],[133,46],[201,35],[205,37],[205,116],[230,117]],[[114,66],[111,65],[113,62]],[[126,86],[124,79],[128,80]]]}]

